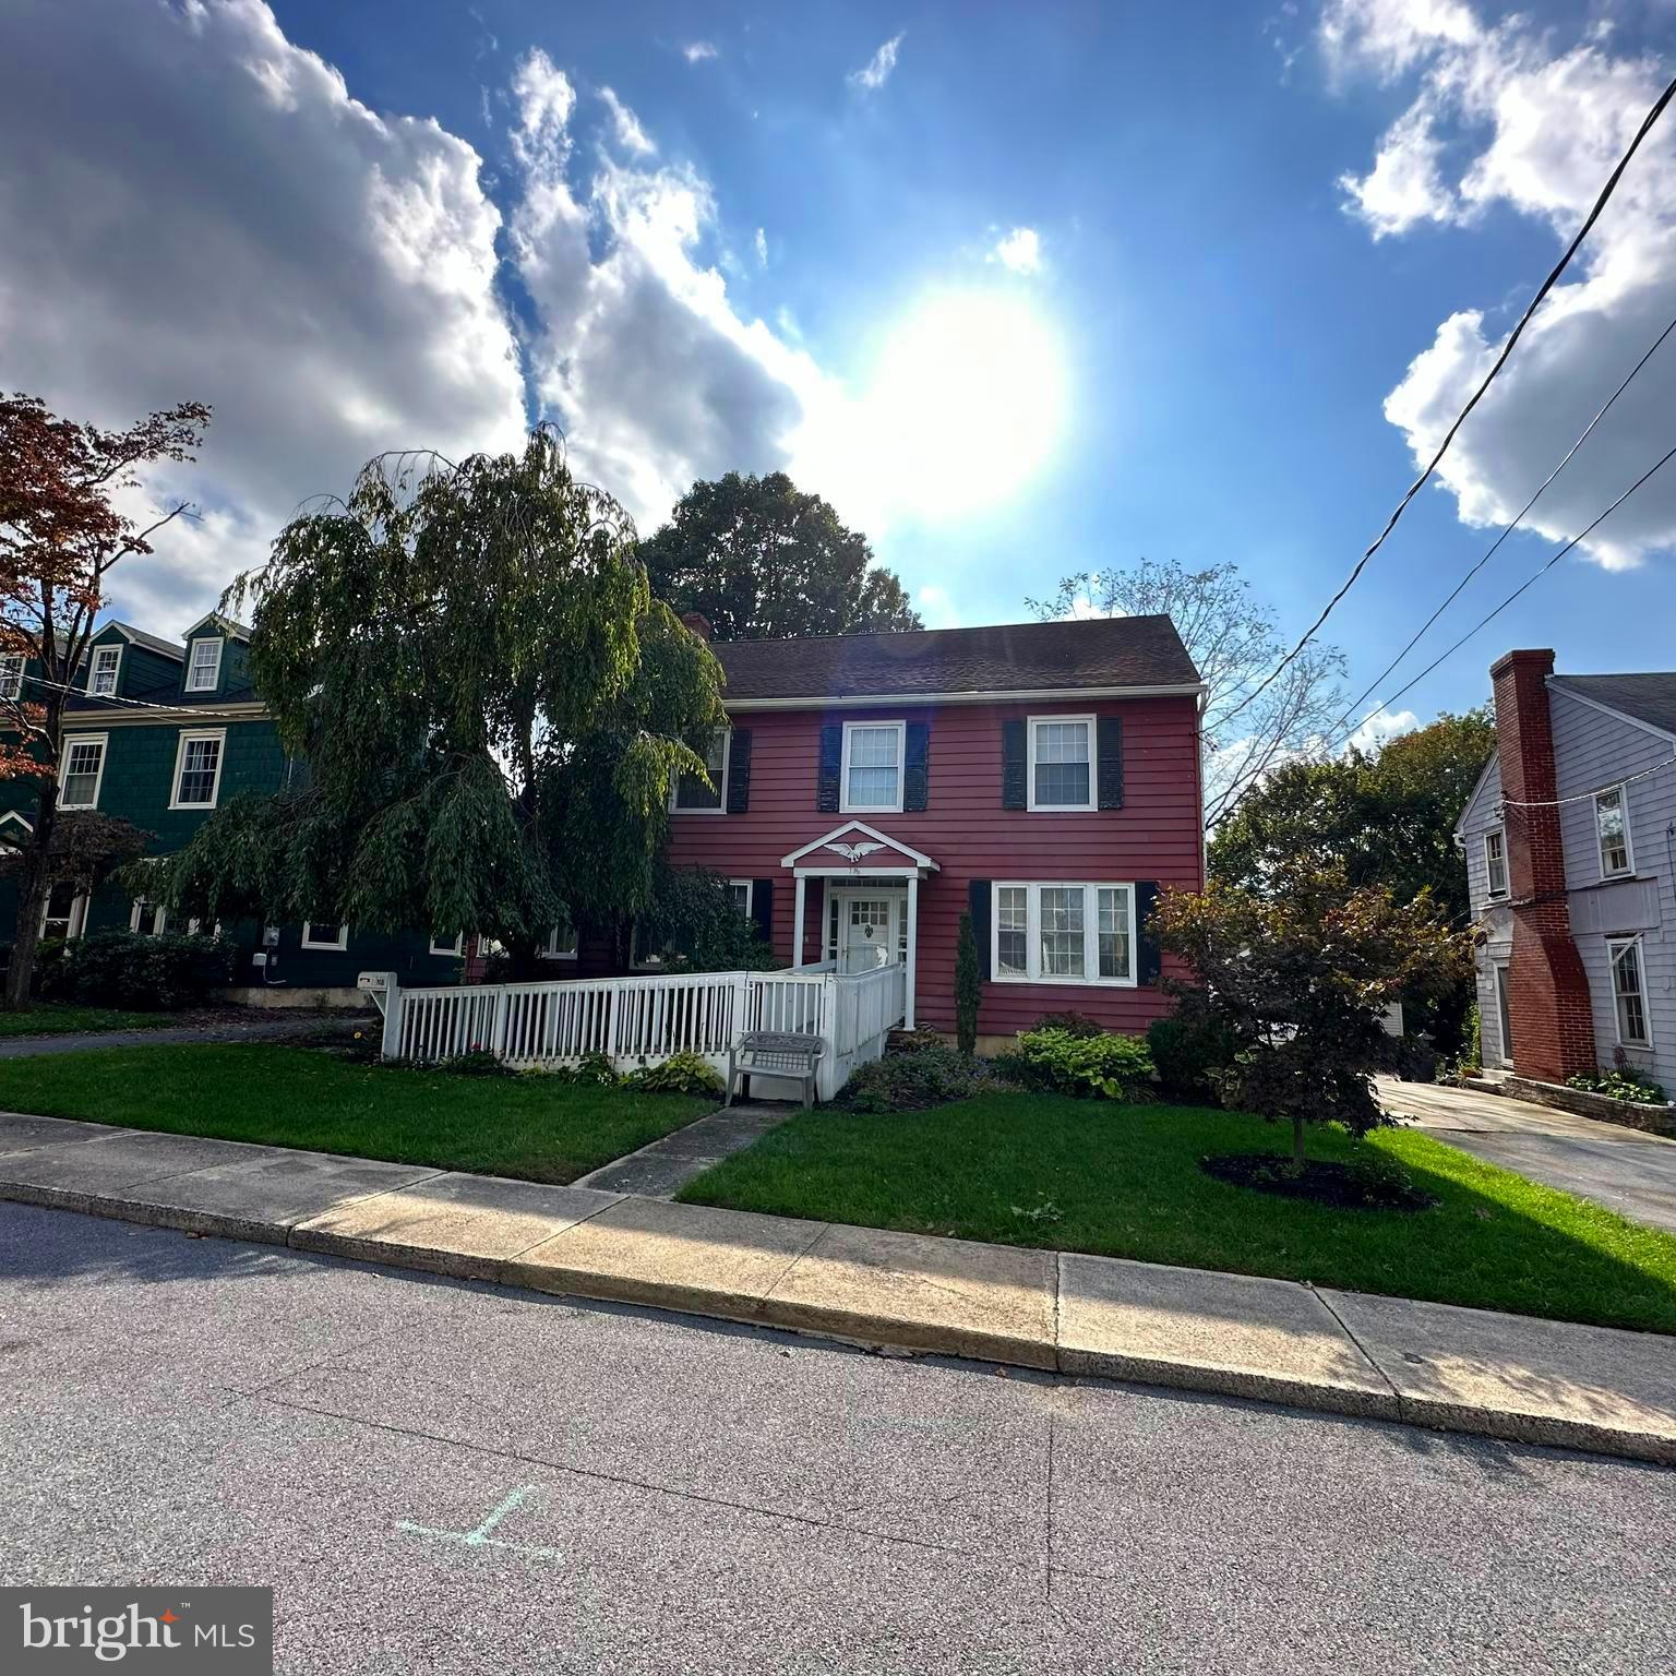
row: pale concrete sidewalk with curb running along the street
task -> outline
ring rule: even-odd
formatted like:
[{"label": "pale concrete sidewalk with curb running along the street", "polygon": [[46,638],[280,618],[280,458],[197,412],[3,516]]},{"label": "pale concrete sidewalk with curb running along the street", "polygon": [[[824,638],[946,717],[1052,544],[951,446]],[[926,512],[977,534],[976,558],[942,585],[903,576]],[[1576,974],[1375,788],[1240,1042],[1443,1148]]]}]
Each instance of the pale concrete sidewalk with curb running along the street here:
[{"label": "pale concrete sidewalk with curb running along the street", "polygon": [[1676,1341],[0,1115],[0,1198],[903,1351],[1676,1465]]}]

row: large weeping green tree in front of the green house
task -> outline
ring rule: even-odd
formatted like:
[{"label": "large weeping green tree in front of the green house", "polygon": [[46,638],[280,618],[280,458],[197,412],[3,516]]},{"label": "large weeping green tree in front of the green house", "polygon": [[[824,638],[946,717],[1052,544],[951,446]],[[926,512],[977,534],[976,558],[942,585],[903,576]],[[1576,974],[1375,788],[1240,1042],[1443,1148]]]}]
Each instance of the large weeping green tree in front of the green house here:
[{"label": "large weeping green tree in front of the green house", "polygon": [[515,970],[563,920],[642,912],[672,776],[721,670],[650,597],[634,526],[521,454],[372,461],[295,518],[228,608],[293,764],[211,816],[164,897],[204,915],[488,932]]}]

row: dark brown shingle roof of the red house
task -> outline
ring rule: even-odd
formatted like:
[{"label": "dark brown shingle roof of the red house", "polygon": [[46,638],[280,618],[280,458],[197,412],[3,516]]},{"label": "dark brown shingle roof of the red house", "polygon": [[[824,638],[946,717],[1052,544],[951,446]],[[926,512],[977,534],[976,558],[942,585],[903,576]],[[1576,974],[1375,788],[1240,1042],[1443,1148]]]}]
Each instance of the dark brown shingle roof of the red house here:
[{"label": "dark brown shingle roof of the red house", "polygon": [[716,655],[727,672],[729,702],[1198,682],[1168,617],[729,640],[716,645]]}]

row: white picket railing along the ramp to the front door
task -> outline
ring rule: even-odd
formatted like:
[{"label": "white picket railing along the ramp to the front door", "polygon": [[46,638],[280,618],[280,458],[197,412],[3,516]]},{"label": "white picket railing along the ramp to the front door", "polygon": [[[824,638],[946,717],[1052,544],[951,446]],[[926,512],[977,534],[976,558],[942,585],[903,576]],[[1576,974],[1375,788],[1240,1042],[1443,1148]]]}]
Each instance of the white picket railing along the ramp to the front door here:
[{"label": "white picket railing along the ramp to the front door", "polygon": [[696,1053],[724,1073],[727,1049],[746,1031],[803,1031],[826,1042],[816,1081],[821,1099],[838,1093],[858,1064],[877,1059],[907,1016],[902,965],[856,977],[818,967],[437,989],[402,989],[394,972],[364,972],[360,987],[384,1011],[385,1059],[434,1064],[481,1048],[523,1068],[575,1064],[598,1053],[617,1071],[632,1071]]}]

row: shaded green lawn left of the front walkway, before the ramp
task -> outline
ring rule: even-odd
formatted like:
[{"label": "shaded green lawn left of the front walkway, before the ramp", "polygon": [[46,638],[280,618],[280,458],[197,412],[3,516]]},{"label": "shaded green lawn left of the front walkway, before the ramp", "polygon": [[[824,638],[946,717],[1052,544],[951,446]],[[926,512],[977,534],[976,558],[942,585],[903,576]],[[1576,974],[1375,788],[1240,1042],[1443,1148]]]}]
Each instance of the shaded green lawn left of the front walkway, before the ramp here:
[{"label": "shaded green lawn left of the front walkway, before the ramp", "polygon": [[453,1076],[266,1042],[0,1059],[0,1110],[444,1170],[573,1182],[714,1099],[548,1076]]}]

